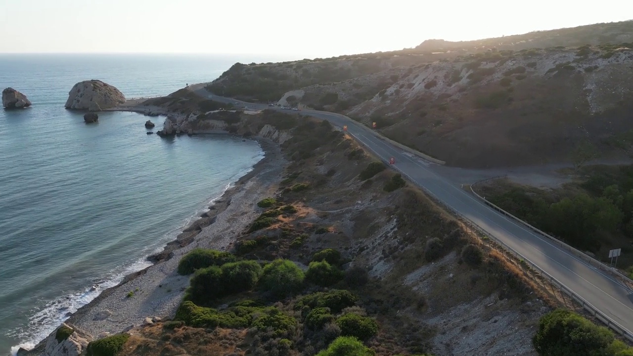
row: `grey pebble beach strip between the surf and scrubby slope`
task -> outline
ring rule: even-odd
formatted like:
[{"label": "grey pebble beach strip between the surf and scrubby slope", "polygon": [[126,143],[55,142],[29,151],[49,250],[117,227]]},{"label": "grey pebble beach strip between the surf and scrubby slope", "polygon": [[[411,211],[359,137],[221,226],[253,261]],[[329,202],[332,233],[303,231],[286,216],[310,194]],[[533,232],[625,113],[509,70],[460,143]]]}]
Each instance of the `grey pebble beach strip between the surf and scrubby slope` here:
[{"label": "grey pebble beach strip between the surf and scrubby slope", "polygon": [[[134,104],[110,111],[147,113],[147,107],[139,108],[136,106],[138,103]],[[264,151],[264,158],[253,165],[250,172],[232,183],[213,202],[208,212],[185,226],[175,240],[168,242],[162,251],[147,257],[153,265],[128,274],[119,284],[105,289],[94,300],[79,308],[65,322],[96,339],[142,326],[148,317],[173,317],[189,284],[189,276],[176,273],[180,257],[197,247],[218,250],[229,248],[256,218],[257,213],[252,207],[257,201],[272,195],[277,188],[276,183],[286,163],[279,145],[260,137],[256,141]],[[39,341],[32,350],[20,355],[42,355],[46,340]]]}]

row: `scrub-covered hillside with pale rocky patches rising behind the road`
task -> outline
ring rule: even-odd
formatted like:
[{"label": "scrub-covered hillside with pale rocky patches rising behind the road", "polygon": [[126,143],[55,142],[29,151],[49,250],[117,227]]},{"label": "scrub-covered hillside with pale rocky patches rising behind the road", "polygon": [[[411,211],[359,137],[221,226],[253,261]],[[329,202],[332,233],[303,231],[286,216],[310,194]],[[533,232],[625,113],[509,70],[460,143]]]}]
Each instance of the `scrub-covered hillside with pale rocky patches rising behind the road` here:
[{"label": "scrub-covered hillside with pale rocky patches rising behind the road", "polygon": [[[610,158],[630,149],[622,135],[633,129],[632,26],[503,37],[567,47],[510,50],[499,39],[429,41],[415,51],[238,63],[207,88],[376,122],[385,136],[460,167],[566,162],[586,141]],[[434,46],[465,47],[432,53]]]}]

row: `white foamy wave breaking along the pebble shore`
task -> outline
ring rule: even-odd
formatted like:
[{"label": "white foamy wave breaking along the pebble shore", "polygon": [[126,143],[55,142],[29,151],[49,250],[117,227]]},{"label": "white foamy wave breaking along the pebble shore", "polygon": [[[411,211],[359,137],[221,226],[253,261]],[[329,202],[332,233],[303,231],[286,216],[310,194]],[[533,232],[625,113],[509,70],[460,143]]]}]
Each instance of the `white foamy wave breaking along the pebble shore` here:
[{"label": "white foamy wave breaking along the pebble shore", "polygon": [[[261,154],[259,156],[263,157]],[[253,167],[248,170],[244,170],[235,176],[239,179],[239,177],[248,174],[251,170],[253,170]],[[232,179],[235,179],[235,176],[232,177]],[[237,181],[237,179],[235,179],[235,181]],[[105,277],[95,279],[91,286],[83,289],[82,291],[77,291],[54,300],[49,300],[44,303],[43,307],[38,308],[39,310],[32,310],[33,314],[28,318],[27,326],[18,327],[9,331],[7,334],[7,336],[22,340],[18,345],[11,346],[11,355],[16,356],[20,348],[25,348],[27,350],[34,348],[37,343],[47,338],[54,329],[60,326],[61,323],[68,320],[70,315],[77,312],[79,308],[83,307],[87,303],[90,303],[94,300],[94,298],[97,298],[101,292],[121,283],[128,274],[138,272],[139,270],[146,269],[151,266],[152,263],[147,260],[149,255],[153,255],[154,253],[158,253],[163,250],[163,247],[167,242],[175,239],[180,231],[188,226],[193,220],[199,218],[201,213],[208,212],[209,207],[214,205],[227,190],[234,186],[234,184],[235,182],[226,184],[221,193],[206,200],[203,208],[196,210],[193,215],[184,219],[182,223],[179,224],[179,227],[167,232],[163,238],[159,240],[158,246],[154,246],[152,250],[144,251],[143,257],[129,262],[128,264],[125,264],[115,270],[111,270]]]}]

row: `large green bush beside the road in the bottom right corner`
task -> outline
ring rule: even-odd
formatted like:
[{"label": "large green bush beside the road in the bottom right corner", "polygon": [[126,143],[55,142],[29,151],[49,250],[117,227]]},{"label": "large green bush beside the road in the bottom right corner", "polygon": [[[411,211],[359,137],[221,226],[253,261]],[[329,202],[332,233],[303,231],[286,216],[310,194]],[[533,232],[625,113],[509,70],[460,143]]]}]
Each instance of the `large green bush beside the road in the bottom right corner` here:
[{"label": "large green bush beside the road in the bottom right corner", "polygon": [[606,327],[596,326],[569,310],[557,309],[541,317],[532,343],[542,356],[607,356],[613,355],[608,349],[614,340]]}]

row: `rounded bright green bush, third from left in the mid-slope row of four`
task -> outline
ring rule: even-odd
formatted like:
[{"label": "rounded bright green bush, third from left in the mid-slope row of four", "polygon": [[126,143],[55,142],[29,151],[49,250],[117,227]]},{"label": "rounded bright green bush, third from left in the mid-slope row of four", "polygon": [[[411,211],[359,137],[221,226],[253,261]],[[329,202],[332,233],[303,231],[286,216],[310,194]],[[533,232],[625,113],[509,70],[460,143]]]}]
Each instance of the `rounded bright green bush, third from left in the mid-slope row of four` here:
[{"label": "rounded bright green bush, third from left in the mid-slope row of four", "polygon": [[303,279],[303,271],[294,262],[278,259],[265,265],[260,288],[281,298],[300,291]]}]

